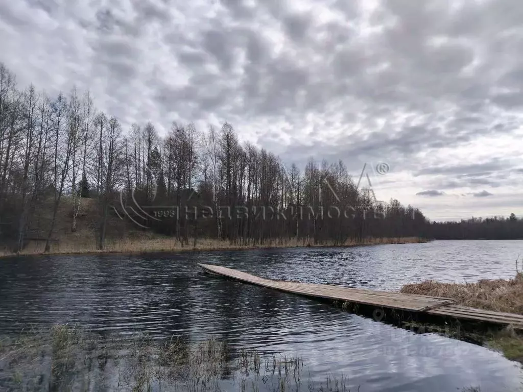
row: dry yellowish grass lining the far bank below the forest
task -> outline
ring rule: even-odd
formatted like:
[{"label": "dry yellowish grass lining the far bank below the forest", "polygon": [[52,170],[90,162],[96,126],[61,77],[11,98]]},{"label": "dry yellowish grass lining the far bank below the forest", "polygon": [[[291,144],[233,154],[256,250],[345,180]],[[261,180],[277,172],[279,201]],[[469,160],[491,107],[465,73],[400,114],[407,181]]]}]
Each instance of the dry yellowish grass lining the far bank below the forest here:
[{"label": "dry yellowish grass lining the far bank below the forest", "polygon": [[[381,244],[412,244],[420,243],[424,240],[416,237],[405,238],[368,238],[363,241],[348,240],[343,245],[334,241],[325,241],[319,245],[313,245],[313,240],[304,239],[269,239],[263,243],[255,243],[253,240],[247,243],[231,241],[221,241],[217,239],[190,238],[187,244],[181,244],[176,238],[154,234],[152,232],[129,232],[126,238],[108,238],[104,251],[96,249],[96,240],[93,232],[87,229],[78,230],[62,236],[59,241],[51,244],[50,254],[67,253],[147,253],[147,252],[176,252],[184,250],[240,250],[258,248],[294,248],[294,247],[328,247],[328,246],[361,246],[361,245],[381,245]],[[20,255],[38,255],[43,253],[43,241],[30,241],[27,247],[21,251]],[[0,250],[0,257],[13,256],[12,252]]]}]

